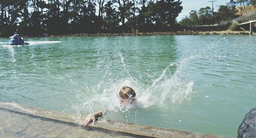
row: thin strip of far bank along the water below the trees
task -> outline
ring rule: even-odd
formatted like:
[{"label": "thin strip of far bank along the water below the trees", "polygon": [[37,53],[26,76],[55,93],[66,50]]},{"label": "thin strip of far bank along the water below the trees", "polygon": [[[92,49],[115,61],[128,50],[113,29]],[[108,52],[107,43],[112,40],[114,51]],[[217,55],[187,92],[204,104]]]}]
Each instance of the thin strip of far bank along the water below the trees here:
[{"label": "thin strip of far bank along the water below the trees", "polygon": [[[249,31],[177,31],[177,32],[143,32],[143,33],[76,33],[44,36],[23,36],[24,38],[36,37],[90,37],[90,36],[157,36],[157,35],[249,35]],[[253,33],[253,35],[256,33]],[[0,37],[9,38],[9,37]]]}]

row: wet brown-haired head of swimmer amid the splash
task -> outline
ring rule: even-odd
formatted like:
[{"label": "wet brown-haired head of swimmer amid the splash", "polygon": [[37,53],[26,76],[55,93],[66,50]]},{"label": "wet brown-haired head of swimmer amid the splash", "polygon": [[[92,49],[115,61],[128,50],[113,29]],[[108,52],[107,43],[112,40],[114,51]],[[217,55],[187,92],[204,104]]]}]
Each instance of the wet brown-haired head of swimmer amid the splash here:
[{"label": "wet brown-haired head of swimmer amid the splash", "polygon": [[136,93],[135,91],[128,86],[124,86],[119,91],[120,105],[126,106],[136,102]]}]

